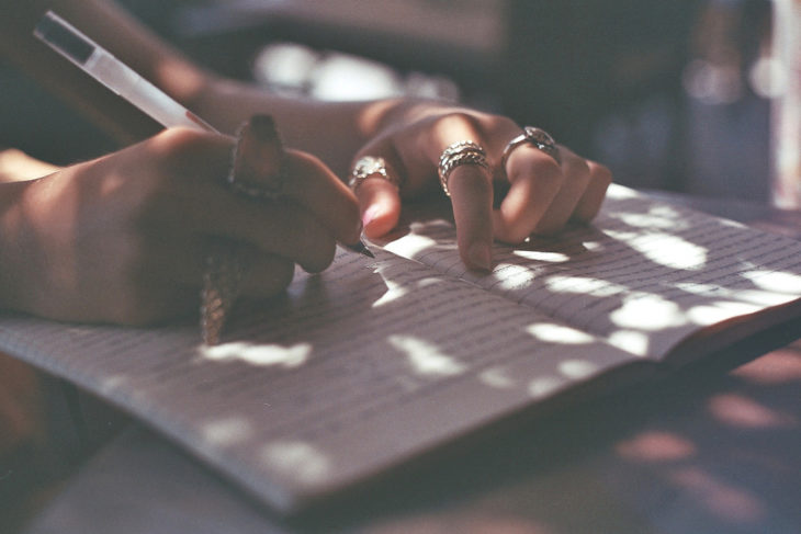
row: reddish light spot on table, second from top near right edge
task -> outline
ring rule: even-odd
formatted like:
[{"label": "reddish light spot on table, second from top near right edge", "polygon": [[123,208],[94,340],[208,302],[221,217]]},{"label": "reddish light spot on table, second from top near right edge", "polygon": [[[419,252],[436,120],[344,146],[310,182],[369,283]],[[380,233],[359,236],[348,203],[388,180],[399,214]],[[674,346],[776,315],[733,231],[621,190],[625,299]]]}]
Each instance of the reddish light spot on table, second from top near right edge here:
[{"label": "reddish light spot on table, second from top near right edge", "polygon": [[766,430],[797,427],[799,421],[756,400],[736,394],[715,395],[707,406],[712,417],[726,425],[744,430]]}]

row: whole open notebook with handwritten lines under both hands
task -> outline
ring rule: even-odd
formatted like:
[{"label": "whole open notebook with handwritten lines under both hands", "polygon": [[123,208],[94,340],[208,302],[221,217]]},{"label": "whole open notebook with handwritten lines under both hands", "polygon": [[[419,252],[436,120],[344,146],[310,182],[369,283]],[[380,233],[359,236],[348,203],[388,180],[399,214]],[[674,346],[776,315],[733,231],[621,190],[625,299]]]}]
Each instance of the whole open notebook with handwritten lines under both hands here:
[{"label": "whole open notebook with handwritten lines under both hands", "polygon": [[801,243],[617,185],[593,226],[498,246],[489,274],[465,272],[445,221],[374,251],[340,251],[285,295],[241,306],[217,346],[194,325],[5,315],[0,350],[289,512],[541,402],[801,317]]}]

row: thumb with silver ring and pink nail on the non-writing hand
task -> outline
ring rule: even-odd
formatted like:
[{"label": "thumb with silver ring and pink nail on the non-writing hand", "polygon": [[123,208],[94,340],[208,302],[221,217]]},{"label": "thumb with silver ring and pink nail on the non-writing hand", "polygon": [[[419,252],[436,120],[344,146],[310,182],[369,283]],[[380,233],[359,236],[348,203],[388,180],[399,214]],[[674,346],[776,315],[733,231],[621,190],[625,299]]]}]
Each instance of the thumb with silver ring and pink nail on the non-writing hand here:
[{"label": "thumb with silver ring and pink nail on the non-writing hand", "polygon": [[[370,158],[366,162],[364,158]],[[353,189],[359,201],[364,234],[375,238],[397,226],[400,218],[400,166],[386,139],[369,144],[356,157],[354,166],[365,162]],[[364,178],[366,177],[366,178]]]}]

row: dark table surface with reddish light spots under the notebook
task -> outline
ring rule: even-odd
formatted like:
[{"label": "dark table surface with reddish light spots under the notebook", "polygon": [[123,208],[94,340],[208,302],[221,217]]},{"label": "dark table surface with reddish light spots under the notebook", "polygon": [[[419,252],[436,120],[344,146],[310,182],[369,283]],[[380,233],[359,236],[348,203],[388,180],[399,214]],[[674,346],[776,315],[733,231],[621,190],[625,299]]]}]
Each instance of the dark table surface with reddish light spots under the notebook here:
[{"label": "dark table surface with reddish light spots under the notebook", "polygon": [[[657,196],[801,238],[801,213]],[[30,490],[14,496],[8,532],[31,518],[36,534],[801,532],[801,342],[537,419],[289,521],[138,423],[40,380],[60,458],[0,464],[0,522],[9,488]],[[71,421],[78,406],[84,429]],[[38,469],[27,480],[26,462]]]}]

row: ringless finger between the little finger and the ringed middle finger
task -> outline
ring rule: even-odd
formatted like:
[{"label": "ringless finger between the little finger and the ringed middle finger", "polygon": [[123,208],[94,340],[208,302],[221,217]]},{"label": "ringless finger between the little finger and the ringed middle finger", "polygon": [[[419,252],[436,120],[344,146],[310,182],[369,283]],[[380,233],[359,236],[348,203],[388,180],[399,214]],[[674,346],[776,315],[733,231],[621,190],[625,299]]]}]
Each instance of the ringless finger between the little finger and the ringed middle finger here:
[{"label": "ringless finger between the little finger and the ringed middle finger", "polygon": [[534,234],[549,235],[561,230],[574,214],[589,184],[590,170],[584,158],[565,147],[560,149],[560,156],[564,177],[562,186],[537,223]]}]

